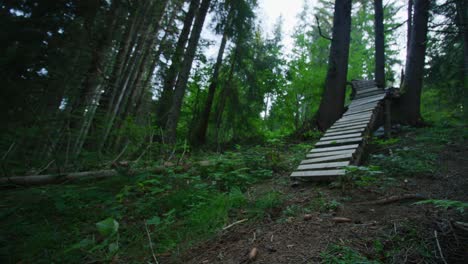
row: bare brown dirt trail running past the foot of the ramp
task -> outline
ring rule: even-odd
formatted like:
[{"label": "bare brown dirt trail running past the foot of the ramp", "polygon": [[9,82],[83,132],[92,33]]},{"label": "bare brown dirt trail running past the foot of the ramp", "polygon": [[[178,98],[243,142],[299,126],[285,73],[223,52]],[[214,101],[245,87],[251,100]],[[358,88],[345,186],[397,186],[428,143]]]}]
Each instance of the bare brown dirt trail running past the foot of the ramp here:
[{"label": "bare brown dirt trail running past the foot of the ramp", "polygon": [[[453,227],[450,227],[450,220],[460,220],[462,216],[459,214],[433,206],[414,205],[414,200],[385,205],[359,202],[402,194],[467,201],[466,146],[448,146],[440,153],[438,166],[444,168],[442,172],[428,177],[398,179],[399,182],[390,188],[353,188],[343,195],[341,190],[330,189],[323,184],[301,183],[297,187],[283,187],[282,191],[291,198],[283,208],[270,215],[270,220],[234,226],[192,248],[176,263],[320,263],[323,260],[320,253],[333,244],[351,247],[373,260],[420,263],[422,259],[417,249],[412,248],[411,243],[401,241],[401,238],[410,236],[427,238],[427,251],[434,254],[436,262],[443,263],[440,250],[436,247],[434,230],[439,232],[441,249],[448,263],[462,263],[463,257],[468,257],[468,249],[460,248],[460,241],[458,246],[454,245]],[[327,200],[340,201],[341,205],[335,210],[312,213],[310,220],[304,220],[303,214],[300,214],[279,221],[286,206],[306,206],[318,195]],[[346,217],[351,222],[336,223],[334,217]],[[415,243],[421,242],[414,240]],[[465,243],[462,244],[468,244],[467,240],[463,241]],[[258,255],[251,261],[248,254],[254,247],[258,249]],[[385,255],[386,252],[393,255]]]}]

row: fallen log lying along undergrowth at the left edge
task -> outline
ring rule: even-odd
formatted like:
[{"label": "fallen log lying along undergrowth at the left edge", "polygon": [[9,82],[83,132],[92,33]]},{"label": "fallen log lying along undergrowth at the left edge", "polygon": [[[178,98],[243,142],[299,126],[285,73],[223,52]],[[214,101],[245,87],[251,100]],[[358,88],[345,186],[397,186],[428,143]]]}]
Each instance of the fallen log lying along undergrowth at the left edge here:
[{"label": "fallen log lying along undergrowth at the left edge", "polygon": [[74,181],[78,179],[101,179],[116,176],[119,173],[116,170],[97,170],[97,171],[84,171],[84,172],[71,172],[60,174],[45,174],[45,175],[31,175],[31,176],[13,176],[0,178],[0,185],[14,184],[14,185],[45,185],[56,184],[65,181]]}]

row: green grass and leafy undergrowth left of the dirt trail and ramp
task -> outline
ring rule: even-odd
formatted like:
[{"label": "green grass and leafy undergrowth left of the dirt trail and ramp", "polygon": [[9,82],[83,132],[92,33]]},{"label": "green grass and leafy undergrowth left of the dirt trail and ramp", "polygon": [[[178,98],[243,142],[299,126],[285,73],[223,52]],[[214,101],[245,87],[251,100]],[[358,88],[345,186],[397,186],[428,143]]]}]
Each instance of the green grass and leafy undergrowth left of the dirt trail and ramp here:
[{"label": "green grass and leafy undergrowth left of the dirt trail and ramp", "polygon": [[5,190],[0,262],[143,263],[152,255],[148,236],[154,254],[177,257],[230,223],[268,217],[283,193],[249,189],[292,170],[308,148],[238,146],[133,177]]}]

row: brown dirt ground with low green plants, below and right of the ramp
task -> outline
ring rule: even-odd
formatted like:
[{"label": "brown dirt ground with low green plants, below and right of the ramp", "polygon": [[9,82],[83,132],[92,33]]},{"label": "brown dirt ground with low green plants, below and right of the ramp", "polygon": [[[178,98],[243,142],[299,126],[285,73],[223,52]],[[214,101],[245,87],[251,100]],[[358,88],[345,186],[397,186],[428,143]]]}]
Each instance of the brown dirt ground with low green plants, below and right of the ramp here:
[{"label": "brown dirt ground with low green plants, below and right of the ramp", "polygon": [[[374,145],[371,152],[378,156],[403,146],[401,151],[417,148],[420,155],[406,156],[413,172],[382,174],[360,186],[338,183],[342,188],[274,180],[254,186],[250,192],[275,189],[287,199],[264,221],[233,226],[189,250],[178,263],[466,263],[468,230],[454,228],[453,222],[466,222],[467,215],[404,198],[468,201],[468,141],[445,138],[431,165],[423,159],[438,140],[424,137],[435,134],[416,130],[399,136],[400,143]],[[418,148],[421,141],[426,150]]]}]

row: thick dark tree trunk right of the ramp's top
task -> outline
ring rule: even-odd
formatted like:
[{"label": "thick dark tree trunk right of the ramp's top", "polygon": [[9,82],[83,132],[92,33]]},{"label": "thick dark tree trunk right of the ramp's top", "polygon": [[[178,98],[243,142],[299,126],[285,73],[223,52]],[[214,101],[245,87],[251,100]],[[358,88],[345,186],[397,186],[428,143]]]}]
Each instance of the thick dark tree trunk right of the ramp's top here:
[{"label": "thick dark tree trunk right of the ramp's top", "polygon": [[415,0],[414,2],[414,25],[411,31],[410,52],[402,87],[403,94],[400,99],[400,121],[409,125],[419,125],[422,122],[420,106],[429,5],[429,0]]}]

